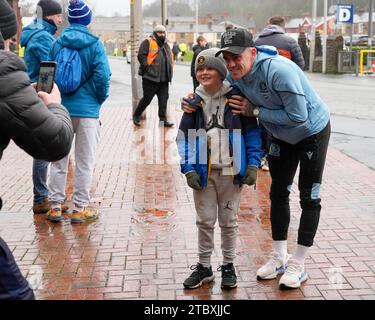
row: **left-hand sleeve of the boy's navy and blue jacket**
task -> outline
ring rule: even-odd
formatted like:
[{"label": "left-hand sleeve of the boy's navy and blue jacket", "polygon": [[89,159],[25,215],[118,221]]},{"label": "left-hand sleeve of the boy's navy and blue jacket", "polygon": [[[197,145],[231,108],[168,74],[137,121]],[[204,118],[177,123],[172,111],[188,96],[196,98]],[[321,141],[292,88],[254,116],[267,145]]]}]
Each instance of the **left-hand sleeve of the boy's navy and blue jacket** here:
[{"label": "left-hand sleeve of the boy's navy and blue jacket", "polygon": [[181,172],[183,174],[194,171],[195,170],[195,160],[196,160],[196,152],[195,152],[195,139],[190,139],[189,141],[189,129],[195,128],[195,113],[184,113],[180,127],[178,130],[176,142],[177,142],[177,149],[178,154],[180,156],[180,166]]}]

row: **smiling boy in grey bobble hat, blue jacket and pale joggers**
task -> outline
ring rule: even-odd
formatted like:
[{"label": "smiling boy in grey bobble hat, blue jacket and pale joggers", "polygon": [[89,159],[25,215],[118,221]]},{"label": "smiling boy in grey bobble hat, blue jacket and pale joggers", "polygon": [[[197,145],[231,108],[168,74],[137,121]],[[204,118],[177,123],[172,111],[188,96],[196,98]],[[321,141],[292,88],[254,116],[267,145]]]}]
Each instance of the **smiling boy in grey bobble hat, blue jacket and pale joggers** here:
[{"label": "smiling boy in grey bobble hat, blue jacket and pale joggers", "polygon": [[222,272],[221,288],[237,286],[233,266],[237,211],[242,185],[255,184],[261,158],[256,120],[235,115],[228,105],[238,90],[224,80],[227,69],[224,60],[215,57],[218,51],[218,48],[207,49],[197,56],[195,71],[200,86],[189,101],[197,110],[183,114],[177,136],[181,171],[194,189],[197,211],[199,262],[190,267],[194,272],[184,282],[189,289],[214,279],[211,254],[217,219],[223,254],[223,264],[218,269]]}]

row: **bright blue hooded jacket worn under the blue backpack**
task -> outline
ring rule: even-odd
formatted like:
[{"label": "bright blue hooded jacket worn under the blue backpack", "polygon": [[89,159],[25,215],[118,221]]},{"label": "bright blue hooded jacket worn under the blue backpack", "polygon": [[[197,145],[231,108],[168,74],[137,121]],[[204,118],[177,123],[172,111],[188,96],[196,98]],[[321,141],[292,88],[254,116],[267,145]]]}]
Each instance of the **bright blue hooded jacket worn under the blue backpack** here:
[{"label": "bright blue hooded jacket worn under the blue backpack", "polygon": [[62,95],[62,104],[72,117],[99,118],[100,107],[109,96],[111,70],[99,38],[86,26],[71,24],[53,44],[50,59],[64,47],[77,50],[82,62],[83,84],[73,95]]}]

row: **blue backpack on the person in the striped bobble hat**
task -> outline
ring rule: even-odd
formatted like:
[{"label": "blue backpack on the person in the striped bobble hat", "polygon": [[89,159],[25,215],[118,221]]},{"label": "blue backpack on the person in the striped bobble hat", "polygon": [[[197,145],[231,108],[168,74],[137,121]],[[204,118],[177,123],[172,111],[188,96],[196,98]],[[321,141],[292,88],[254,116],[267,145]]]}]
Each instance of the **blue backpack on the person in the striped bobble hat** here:
[{"label": "blue backpack on the person in the striped bobble hat", "polygon": [[56,56],[56,84],[60,92],[72,95],[81,87],[82,62],[77,50],[64,47]]}]

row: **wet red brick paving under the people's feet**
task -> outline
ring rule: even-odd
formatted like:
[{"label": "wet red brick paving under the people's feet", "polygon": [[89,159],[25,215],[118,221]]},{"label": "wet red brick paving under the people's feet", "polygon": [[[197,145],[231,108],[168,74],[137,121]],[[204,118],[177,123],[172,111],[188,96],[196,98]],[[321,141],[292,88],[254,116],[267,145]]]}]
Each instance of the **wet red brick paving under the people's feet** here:
[{"label": "wet red brick paving under the people's feet", "polygon": [[[38,299],[374,299],[375,172],[332,148],[320,226],[306,261],[310,278],[301,289],[280,291],[276,280],[256,280],[271,249],[270,178],[261,172],[257,189],[246,187],[240,206],[238,288],[222,291],[215,271],[214,283],[184,290],[188,267],[197,261],[192,192],[171,160],[176,130],[158,128],[155,105],[149,109],[150,134],[142,136],[131,124],[129,108],[104,108],[92,190],[101,214],[91,223],[72,226],[65,215],[53,224],[33,216],[31,158],[14,145],[5,151],[0,234],[28,279],[33,268],[42,270]],[[158,156],[156,150],[166,152]],[[291,208],[290,250],[300,214],[296,185]],[[219,230],[215,239],[214,269],[221,262]]]}]

